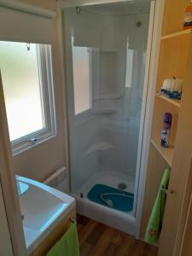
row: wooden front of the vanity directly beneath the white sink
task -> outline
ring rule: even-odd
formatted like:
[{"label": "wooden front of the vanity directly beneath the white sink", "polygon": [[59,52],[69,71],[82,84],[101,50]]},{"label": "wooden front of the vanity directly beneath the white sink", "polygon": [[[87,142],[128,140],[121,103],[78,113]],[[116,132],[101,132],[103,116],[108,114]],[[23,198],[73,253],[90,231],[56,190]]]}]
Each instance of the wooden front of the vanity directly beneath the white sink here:
[{"label": "wooden front of the vanity directly beneath the white sink", "polygon": [[75,207],[73,210],[68,212],[67,216],[63,218],[60,222],[60,224],[57,224],[55,229],[47,236],[44,241],[38,246],[31,254],[30,256],[43,256],[46,255],[46,253],[49,251],[51,247],[53,247],[56,243],[56,241],[59,241],[61,236],[65,234],[65,232],[68,230],[69,225],[71,223],[71,219],[76,218],[76,209]]}]

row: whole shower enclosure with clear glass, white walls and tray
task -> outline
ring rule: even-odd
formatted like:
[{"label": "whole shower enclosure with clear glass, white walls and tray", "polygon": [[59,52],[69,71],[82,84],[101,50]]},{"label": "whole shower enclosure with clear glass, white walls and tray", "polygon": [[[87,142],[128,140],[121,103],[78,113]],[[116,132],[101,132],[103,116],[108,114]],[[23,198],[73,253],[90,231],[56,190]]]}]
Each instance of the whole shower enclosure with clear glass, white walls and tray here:
[{"label": "whole shower enclosure with clear glass, white walls and tray", "polygon": [[134,234],[150,1],[64,11],[71,192],[78,212]]}]

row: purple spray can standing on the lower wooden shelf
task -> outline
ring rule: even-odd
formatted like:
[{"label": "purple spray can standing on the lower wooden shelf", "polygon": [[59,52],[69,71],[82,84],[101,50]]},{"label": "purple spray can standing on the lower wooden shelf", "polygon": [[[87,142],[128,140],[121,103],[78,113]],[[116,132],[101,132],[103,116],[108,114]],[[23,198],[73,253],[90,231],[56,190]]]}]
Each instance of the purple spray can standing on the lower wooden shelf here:
[{"label": "purple spray can standing on the lower wooden shelf", "polygon": [[161,146],[164,148],[169,147],[171,126],[172,126],[172,113],[165,113],[163,128],[161,131]]}]

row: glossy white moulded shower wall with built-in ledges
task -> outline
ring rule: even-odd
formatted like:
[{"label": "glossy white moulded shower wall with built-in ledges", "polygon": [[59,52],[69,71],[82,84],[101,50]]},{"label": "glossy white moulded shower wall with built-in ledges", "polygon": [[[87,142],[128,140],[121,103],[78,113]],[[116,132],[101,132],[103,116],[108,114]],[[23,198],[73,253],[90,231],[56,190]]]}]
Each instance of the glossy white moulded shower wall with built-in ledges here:
[{"label": "glossy white moulded shower wall with built-in ledges", "polygon": [[[120,13],[123,8],[119,6]],[[96,172],[136,175],[149,6],[130,5],[124,10],[130,15],[112,15],[113,9],[106,10],[89,7],[79,15],[75,9],[66,13],[74,45],[95,49],[92,108],[73,116],[70,127],[73,192]],[[137,27],[138,21],[142,26]],[[126,84],[128,48],[133,55],[131,84]]]}]

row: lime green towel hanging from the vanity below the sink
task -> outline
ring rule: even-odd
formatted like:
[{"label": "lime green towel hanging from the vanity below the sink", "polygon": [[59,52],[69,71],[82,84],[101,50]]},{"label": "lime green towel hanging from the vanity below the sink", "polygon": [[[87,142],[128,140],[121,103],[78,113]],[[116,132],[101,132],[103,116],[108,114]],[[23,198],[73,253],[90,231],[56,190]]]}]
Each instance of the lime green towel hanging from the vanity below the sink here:
[{"label": "lime green towel hanging from the vanity below the sink", "polygon": [[67,233],[55,243],[46,256],[79,256],[79,239],[76,224],[71,224]]}]

